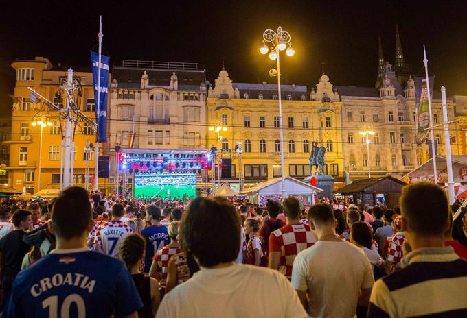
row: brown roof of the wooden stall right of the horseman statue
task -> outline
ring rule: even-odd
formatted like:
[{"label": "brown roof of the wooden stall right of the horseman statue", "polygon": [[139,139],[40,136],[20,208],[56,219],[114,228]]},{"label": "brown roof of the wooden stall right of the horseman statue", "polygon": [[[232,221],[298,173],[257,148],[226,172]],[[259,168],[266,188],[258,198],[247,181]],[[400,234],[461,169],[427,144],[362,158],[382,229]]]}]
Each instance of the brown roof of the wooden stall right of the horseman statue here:
[{"label": "brown roof of the wooden stall right of the horseman statue", "polygon": [[[387,181],[394,183],[394,184],[399,184],[399,187],[396,187],[396,189],[390,189],[387,184],[384,184]],[[378,185],[380,186],[378,187]],[[342,188],[337,189],[334,191],[335,193],[341,193],[341,194],[354,194],[354,193],[359,193],[359,192],[364,192],[364,193],[391,193],[394,192],[400,192],[400,188],[402,186],[407,185],[407,183],[402,182],[396,178],[391,177],[390,175],[386,175],[385,177],[379,177],[379,178],[367,178],[367,179],[360,179],[360,180],[355,180],[351,184],[347,184],[346,186],[343,186]],[[399,190],[399,191],[398,191]]]}]

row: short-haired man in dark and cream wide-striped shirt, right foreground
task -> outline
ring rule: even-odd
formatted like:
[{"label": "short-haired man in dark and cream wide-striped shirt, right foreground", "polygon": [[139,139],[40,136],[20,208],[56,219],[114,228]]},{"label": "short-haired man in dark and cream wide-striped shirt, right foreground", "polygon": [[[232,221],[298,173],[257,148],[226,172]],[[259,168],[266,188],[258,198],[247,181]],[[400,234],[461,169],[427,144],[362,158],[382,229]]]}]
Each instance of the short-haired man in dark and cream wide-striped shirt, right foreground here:
[{"label": "short-haired man in dark and cream wide-striped shirt, right foreground", "polygon": [[446,193],[431,182],[405,186],[400,210],[412,252],[376,282],[367,317],[467,317],[467,261],[444,247]]}]

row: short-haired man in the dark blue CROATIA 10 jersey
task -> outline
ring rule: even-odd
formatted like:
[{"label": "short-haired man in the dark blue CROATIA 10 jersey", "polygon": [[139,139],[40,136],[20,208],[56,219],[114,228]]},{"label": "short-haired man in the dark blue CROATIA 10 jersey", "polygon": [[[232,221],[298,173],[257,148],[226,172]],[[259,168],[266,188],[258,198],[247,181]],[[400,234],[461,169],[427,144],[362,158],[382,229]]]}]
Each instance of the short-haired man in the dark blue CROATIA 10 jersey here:
[{"label": "short-haired man in the dark blue CROATIA 10 jersey", "polygon": [[65,188],[52,210],[56,249],[16,277],[3,317],[137,317],[143,304],[121,260],[89,251],[84,188]]}]

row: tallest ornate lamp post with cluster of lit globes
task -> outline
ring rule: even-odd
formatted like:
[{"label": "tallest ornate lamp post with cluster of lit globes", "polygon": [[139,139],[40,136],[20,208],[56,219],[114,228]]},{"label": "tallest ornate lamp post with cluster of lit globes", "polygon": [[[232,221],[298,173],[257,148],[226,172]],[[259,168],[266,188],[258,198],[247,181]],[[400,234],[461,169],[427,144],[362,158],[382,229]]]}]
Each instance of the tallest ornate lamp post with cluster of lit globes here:
[{"label": "tallest ornate lamp post with cluster of lit globes", "polygon": [[[266,42],[269,45],[266,45]],[[287,47],[288,45],[288,47]],[[280,52],[286,50],[287,56],[293,56],[295,50],[292,47],[291,35],[287,31],[283,30],[282,27],[277,28],[277,32],[271,29],[266,29],[263,32],[263,44],[260,47],[260,53],[263,55],[269,52],[269,58],[271,60],[277,60],[277,71],[270,70],[271,76],[277,76],[277,95],[279,99],[279,132],[280,132],[280,162],[281,162],[281,195],[284,200],[286,197],[285,188],[285,167],[284,167],[284,133],[282,131],[282,97],[280,88]]]}]

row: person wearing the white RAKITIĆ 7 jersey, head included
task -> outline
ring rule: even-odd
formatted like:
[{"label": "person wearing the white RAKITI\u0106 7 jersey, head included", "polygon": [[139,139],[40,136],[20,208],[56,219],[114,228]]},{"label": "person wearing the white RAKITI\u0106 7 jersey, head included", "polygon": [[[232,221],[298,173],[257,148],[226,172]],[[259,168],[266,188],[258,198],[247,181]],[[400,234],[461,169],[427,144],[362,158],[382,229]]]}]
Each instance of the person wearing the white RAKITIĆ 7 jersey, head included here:
[{"label": "person wearing the white RAKITI\u0106 7 jersey, head included", "polygon": [[112,219],[99,225],[95,232],[95,251],[109,256],[119,257],[119,246],[122,239],[131,234],[131,228],[122,221],[124,208],[122,204],[112,206]]}]

